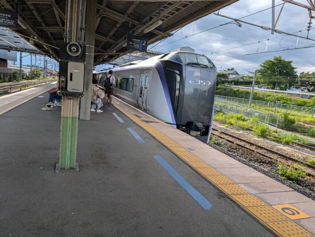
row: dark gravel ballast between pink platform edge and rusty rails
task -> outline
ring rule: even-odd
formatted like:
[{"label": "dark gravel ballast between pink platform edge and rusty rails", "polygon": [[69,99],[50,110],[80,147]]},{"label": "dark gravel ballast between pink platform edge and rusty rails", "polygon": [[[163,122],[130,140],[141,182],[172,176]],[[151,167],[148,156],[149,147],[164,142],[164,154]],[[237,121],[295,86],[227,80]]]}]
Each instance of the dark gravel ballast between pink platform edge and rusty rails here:
[{"label": "dark gravel ballast between pink platform edge and rusty rails", "polygon": [[237,145],[231,145],[231,143],[223,139],[220,139],[220,145],[213,143],[209,143],[208,145],[226,155],[229,155],[235,160],[254,168],[268,177],[285,184],[291,189],[294,189],[312,200],[315,200],[315,180],[313,178],[303,179],[298,181],[297,184],[291,183],[290,181],[283,179],[279,174],[279,164],[277,161],[271,160]]}]

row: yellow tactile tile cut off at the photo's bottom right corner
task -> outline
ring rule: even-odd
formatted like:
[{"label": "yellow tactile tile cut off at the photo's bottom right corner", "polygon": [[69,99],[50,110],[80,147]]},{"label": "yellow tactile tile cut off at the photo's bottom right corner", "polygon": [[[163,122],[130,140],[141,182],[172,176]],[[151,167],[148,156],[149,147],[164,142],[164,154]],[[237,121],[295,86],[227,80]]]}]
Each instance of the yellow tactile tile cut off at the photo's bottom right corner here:
[{"label": "yellow tactile tile cut off at the photo's bottom right corner", "polygon": [[293,221],[279,221],[265,224],[283,237],[314,237],[314,235],[295,224]]}]

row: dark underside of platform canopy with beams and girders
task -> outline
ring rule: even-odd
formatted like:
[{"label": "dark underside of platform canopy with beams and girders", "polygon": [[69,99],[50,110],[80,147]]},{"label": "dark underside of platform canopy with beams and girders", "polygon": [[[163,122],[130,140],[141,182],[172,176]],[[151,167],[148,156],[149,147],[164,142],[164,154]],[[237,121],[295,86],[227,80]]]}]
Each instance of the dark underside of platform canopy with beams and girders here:
[{"label": "dark underside of platform canopy with beams and girders", "polygon": [[[66,1],[18,0],[18,25],[14,31],[44,54],[57,59],[59,43],[65,39]],[[152,44],[170,37],[172,31],[237,1],[98,0],[94,63],[106,63],[130,52],[126,48],[128,34],[146,36]],[[0,7],[15,11],[15,2],[0,0]],[[144,33],[161,21],[162,24]]]}]

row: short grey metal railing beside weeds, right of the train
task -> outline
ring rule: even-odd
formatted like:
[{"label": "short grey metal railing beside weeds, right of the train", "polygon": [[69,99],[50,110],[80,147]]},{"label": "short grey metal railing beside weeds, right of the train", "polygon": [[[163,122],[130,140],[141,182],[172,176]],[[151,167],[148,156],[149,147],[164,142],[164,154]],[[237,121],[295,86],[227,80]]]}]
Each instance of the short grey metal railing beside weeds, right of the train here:
[{"label": "short grey metal railing beside weeds, right of the train", "polygon": [[215,109],[226,113],[232,112],[235,114],[243,114],[243,116],[248,118],[256,117],[262,123],[278,127],[279,115],[267,112],[265,110],[259,110],[218,97],[215,98]]}]

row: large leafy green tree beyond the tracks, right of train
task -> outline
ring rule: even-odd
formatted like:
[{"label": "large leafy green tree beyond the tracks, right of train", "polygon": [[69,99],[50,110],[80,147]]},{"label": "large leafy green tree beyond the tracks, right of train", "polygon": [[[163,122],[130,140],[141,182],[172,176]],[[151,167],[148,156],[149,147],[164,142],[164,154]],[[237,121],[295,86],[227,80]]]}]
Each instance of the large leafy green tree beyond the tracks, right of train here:
[{"label": "large leafy green tree beyond the tracks, right of train", "polygon": [[297,72],[295,71],[296,67],[292,66],[292,61],[287,61],[281,56],[266,59],[259,66],[260,69],[257,70],[257,79],[262,83],[272,85],[272,88],[275,88],[276,84],[278,84],[278,87],[290,87],[293,85],[293,82],[286,81],[285,79],[297,77]]}]

